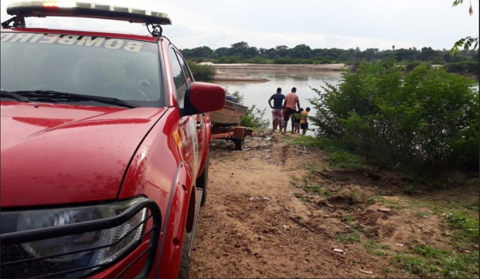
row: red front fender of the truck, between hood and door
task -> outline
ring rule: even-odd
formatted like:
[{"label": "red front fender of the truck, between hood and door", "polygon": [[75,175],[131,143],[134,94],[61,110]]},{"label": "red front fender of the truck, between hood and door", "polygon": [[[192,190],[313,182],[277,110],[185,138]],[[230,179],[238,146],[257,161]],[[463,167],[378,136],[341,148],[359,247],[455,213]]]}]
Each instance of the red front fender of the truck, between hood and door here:
[{"label": "red front fender of the truck, between hood and door", "polygon": [[[195,177],[182,159],[178,131],[179,112],[169,109],[140,144],[127,170],[119,198],[146,195],[162,212],[162,228],[155,265],[149,278],[176,278],[187,219],[194,219]],[[190,217],[191,216],[191,217]]]}]

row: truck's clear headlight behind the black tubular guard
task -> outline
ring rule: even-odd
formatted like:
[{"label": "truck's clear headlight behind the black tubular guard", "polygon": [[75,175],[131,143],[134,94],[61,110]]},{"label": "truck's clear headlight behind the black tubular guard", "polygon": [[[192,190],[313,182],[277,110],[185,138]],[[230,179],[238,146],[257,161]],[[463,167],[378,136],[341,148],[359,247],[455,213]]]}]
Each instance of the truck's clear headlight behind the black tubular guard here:
[{"label": "truck's clear headlight behind the black tubular guard", "polygon": [[[1,233],[24,232],[114,217],[142,199],[145,198],[73,208],[2,211]],[[24,270],[16,264],[16,271],[12,274],[8,270],[8,265],[2,266],[2,275],[31,277],[49,274],[52,271],[62,272],[62,270],[81,269],[114,261],[126,250],[139,244],[145,227],[146,216],[147,208],[143,208],[123,224],[111,229],[69,234],[2,247],[2,265],[5,262],[27,259]],[[94,267],[82,270],[82,274],[75,272],[73,277],[86,275],[93,270]]]}]

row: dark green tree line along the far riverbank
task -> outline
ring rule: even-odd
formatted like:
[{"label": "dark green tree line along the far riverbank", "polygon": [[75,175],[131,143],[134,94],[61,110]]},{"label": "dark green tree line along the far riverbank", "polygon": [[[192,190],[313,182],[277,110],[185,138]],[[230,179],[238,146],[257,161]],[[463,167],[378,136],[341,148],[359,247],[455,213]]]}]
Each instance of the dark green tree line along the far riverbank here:
[{"label": "dark green tree line along the far riverbank", "polygon": [[449,49],[436,50],[432,47],[395,48],[380,50],[359,47],[310,48],[307,45],[295,47],[277,46],[272,48],[250,47],[247,42],[238,42],[230,47],[194,47],[182,49],[184,56],[194,62],[214,63],[274,63],[274,64],[358,64],[360,61],[376,62],[393,58],[407,67],[414,68],[419,63],[444,65],[448,72],[478,74],[479,51],[464,50],[455,56]]}]

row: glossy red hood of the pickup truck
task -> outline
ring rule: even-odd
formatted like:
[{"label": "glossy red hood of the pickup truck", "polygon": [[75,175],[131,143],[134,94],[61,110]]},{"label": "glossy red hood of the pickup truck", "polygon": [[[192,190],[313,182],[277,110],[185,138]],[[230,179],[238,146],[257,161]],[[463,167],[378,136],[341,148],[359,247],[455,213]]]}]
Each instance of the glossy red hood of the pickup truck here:
[{"label": "glossy red hood of the pickup truck", "polygon": [[116,199],[135,150],[165,111],[1,102],[1,207]]}]

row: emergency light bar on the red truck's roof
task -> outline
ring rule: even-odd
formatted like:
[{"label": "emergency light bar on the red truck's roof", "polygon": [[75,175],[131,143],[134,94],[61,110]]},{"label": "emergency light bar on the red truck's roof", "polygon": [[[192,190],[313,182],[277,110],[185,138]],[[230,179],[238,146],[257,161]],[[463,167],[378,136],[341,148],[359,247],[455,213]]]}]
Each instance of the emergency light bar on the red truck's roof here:
[{"label": "emergency light bar on the red truck's roof", "polygon": [[75,1],[27,1],[9,4],[7,14],[16,17],[67,16],[126,20],[130,23],[171,24],[167,14],[147,10]]}]

